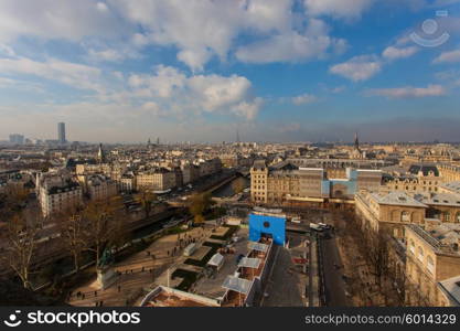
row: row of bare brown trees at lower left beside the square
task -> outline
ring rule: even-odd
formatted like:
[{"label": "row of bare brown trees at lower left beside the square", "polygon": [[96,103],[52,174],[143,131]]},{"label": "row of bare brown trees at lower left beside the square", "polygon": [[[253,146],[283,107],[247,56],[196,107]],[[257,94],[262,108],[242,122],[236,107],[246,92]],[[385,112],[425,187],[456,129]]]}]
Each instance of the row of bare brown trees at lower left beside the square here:
[{"label": "row of bare brown trees at lower left beside the square", "polygon": [[13,270],[24,288],[31,288],[31,276],[50,263],[44,254],[50,246],[53,256],[72,256],[75,271],[78,271],[85,252],[94,253],[99,266],[105,249],[128,239],[127,214],[119,196],[93,201],[46,220],[36,204],[25,200],[24,195],[9,195],[0,218],[6,229],[2,232],[2,268]]}]

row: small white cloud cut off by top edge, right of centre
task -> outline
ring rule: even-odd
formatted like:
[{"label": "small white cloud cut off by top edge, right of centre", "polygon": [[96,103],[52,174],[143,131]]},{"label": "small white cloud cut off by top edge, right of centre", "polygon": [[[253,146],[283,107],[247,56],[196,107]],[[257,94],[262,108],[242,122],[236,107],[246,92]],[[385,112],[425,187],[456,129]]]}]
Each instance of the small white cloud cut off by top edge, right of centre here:
[{"label": "small white cloud cut off by top edge, right of centre", "polygon": [[331,15],[338,19],[356,19],[371,7],[373,0],[303,0],[310,15]]}]

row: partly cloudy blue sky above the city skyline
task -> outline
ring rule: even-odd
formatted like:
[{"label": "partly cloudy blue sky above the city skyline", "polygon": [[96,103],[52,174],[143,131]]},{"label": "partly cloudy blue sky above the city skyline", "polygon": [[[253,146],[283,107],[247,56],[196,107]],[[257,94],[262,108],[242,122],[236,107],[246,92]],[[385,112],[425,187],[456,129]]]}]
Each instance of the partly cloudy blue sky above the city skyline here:
[{"label": "partly cloudy blue sky above the city skyline", "polygon": [[1,0],[0,140],[460,141],[460,0]]}]

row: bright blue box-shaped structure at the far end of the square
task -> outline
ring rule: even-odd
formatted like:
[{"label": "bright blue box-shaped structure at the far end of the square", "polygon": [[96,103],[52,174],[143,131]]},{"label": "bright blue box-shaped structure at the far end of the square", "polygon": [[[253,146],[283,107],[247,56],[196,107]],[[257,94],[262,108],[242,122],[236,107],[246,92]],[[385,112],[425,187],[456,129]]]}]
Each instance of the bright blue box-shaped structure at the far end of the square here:
[{"label": "bright blue box-shaped structure at the far end of the square", "polygon": [[286,216],[252,213],[249,214],[249,241],[258,242],[260,237],[268,236],[276,245],[286,243]]}]

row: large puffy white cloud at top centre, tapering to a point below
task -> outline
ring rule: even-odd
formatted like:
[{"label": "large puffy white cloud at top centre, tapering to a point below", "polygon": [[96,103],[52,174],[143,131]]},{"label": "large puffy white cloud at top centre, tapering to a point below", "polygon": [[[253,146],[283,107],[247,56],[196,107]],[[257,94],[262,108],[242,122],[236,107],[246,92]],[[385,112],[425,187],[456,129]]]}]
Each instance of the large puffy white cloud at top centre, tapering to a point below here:
[{"label": "large puffy white cloud at top centre, tapering to a point below", "polygon": [[140,24],[147,42],[178,47],[178,60],[202,71],[212,56],[225,61],[244,31],[271,33],[291,25],[292,0],[248,1],[122,1],[109,3],[130,22]]}]

